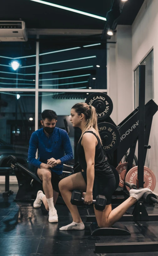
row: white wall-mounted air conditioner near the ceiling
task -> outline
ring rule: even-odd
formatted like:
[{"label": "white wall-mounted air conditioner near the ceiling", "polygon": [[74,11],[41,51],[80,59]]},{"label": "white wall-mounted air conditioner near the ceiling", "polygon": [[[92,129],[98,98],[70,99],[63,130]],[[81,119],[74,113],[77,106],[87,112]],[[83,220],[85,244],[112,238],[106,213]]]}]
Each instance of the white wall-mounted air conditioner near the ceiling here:
[{"label": "white wall-mounted air conditioner near the ceiling", "polygon": [[0,20],[0,42],[23,42],[27,41],[27,39],[24,21]]}]

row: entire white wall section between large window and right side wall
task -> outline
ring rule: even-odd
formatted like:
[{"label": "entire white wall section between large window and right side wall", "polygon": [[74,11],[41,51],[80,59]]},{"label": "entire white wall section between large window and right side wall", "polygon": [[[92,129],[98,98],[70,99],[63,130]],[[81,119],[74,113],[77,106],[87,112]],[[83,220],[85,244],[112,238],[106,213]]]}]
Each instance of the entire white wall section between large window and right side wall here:
[{"label": "entire white wall section between large window and right side wall", "polygon": [[132,27],[117,26],[116,44],[108,43],[107,84],[113,102],[111,118],[118,125],[133,111]]}]

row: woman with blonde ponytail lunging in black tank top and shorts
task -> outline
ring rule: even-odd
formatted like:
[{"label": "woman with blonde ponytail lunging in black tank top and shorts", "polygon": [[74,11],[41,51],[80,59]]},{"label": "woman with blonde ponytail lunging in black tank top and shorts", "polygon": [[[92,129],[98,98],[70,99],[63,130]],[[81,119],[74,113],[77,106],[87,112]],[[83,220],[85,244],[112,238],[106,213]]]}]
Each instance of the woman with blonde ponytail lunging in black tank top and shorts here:
[{"label": "woman with blonde ponytail lunging in black tank top and shorts", "polygon": [[150,189],[131,189],[129,198],[112,210],[111,198],[115,191],[115,176],[107,162],[107,156],[102,148],[101,137],[97,126],[95,108],[86,103],[77,103],[71,109],[71,123],[82,131],[77,145],[79,164],[83,172],[70,175],[59,182],[63,200],[70,210],[73,222],[60,230],[83,230],[84,224],[80,218],[77,206],[70,202],[72,190],[86,191],[84,203],[90,205],[97,195],[105,195],[107,202],[103,211],[94,207],[99,227],[111,227],[142,195]]}]

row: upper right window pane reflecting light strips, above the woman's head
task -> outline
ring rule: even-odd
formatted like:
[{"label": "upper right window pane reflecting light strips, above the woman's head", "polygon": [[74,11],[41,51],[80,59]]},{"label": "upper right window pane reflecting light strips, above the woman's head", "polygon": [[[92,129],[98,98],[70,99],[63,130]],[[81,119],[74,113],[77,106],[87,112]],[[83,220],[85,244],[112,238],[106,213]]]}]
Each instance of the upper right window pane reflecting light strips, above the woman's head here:
[{"label": "upper right window pane reflecting light strips, above the woman's head", "polygon": [[42,41],[39,88],[106,89],[106,45],[73,38]]}]

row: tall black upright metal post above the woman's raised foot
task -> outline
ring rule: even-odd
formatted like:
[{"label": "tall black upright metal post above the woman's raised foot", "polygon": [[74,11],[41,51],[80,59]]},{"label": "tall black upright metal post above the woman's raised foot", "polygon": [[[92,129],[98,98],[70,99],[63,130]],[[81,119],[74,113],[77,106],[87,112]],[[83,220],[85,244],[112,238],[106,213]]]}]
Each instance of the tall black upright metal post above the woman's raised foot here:
[{"label": "tall black upright metal post above the woman's raised foot", "polygon": [[139,66],[138,188],[144,187],[145,65]]}]

